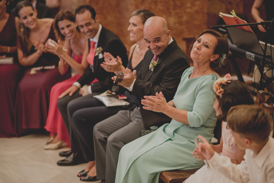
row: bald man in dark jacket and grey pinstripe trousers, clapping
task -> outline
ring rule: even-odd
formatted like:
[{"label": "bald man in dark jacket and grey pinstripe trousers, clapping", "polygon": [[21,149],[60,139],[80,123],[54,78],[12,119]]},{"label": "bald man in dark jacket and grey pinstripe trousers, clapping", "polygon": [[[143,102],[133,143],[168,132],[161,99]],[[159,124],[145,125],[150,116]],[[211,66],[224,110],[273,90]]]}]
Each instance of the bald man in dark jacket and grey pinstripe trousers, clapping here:
[{"label": "bald man in dark jacket and grey pinstripe trousers, clapping", "polygon": [[[167,22],[153,16],[144,24],[146,52],[138,74],[131,72],[119,83],[133,95],[142,99],[162,92],[167,101],[173,99],[181,76],[189,67],[187,55],[170,36]],[[116,76],[113,78],[116,79]],[[97,179],[114,183],[120,149],[139,138],[141,130],[169,123],[171,118],[163,113],[144,110],[141,100],[139,107],[119,111],[117,114],[97,123],[93,128]],[[104,181],[102,181],[104,182]]]}]

